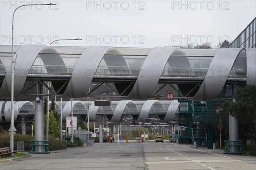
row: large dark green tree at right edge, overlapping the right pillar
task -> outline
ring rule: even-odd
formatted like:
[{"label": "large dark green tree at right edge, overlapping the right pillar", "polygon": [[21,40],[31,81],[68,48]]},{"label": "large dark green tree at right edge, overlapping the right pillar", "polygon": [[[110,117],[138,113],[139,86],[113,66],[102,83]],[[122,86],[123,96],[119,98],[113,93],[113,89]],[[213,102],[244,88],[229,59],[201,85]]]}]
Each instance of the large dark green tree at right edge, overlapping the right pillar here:
[{"label": "large dark green tree at right edge, overlapping the right pillar", "polygon": [[[247,138],[255,138],[256,132],[256,85],[246,85],[241,89],[236,89],[237,100],[225,102],[223,109],[229,110],[230,115],[234,116],[241,124]],[[254,129],[254,130],[253,130]]]}]

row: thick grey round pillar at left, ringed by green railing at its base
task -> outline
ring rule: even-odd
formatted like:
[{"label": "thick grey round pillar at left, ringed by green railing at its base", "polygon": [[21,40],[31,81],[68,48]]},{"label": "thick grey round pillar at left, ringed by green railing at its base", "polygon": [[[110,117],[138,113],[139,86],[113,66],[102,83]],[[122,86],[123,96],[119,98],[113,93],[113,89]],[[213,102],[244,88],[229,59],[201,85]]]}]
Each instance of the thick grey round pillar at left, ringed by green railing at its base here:
[{"label": "thick grey round pillar at left, ringed by green railing at its base", "polygon": [[[44,101],[35,100],[35,141],[44,140]],[[36,147],[37,149],[37,147]],[[43,146],[39,147],[36,152],[43,152]]]}]

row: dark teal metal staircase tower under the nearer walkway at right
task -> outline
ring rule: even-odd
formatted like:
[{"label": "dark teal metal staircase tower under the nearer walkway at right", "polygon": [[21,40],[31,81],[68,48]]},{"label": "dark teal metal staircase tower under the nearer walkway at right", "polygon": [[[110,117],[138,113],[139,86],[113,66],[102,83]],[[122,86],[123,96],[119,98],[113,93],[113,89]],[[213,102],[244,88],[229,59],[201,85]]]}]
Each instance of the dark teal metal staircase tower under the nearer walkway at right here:
[{"label": "dark teal metal staircase tower under the nearer walkway at right", "polygon": [[[183,126],[179,131],[180,144],[194,144],[198,147],[212,147],[213,132],[209,122],[218,121],[217,115],[212,111],[211,101],[180,101],[178,125]],[[192,127],[192,122],[206,122],[206,129]]]}]

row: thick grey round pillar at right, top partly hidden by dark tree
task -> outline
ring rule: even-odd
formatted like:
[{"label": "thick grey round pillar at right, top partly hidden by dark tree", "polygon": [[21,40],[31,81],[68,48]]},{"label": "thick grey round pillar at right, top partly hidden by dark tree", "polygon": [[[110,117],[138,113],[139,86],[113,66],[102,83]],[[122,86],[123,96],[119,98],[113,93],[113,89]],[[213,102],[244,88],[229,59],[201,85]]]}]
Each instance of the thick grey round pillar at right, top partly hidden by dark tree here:
[{"label": "thick grey round pillar at right, top partly hidden by dark tree", "polygon": [[[229,140],[238,141],[238,122],[232,115],[229,115]],[[235,152],[233,146],[230,146],[230,152]]]}]

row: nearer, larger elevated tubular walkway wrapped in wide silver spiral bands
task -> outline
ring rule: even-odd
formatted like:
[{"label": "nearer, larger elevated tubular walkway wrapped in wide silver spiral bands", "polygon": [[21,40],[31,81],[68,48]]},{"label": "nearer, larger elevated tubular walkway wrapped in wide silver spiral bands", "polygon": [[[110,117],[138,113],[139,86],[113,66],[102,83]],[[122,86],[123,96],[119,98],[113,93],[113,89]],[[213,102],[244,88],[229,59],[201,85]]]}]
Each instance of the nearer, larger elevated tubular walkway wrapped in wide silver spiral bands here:
[{"label": "nearer, larger elevated tubular walkway wrapped in wide silver spiral bands", "polygon": [[[256,49],[24,45],[14,52],[15,97],[46,95],[35,86],[63,98],[101,97],[96,89],[112,83],[115,97],[127,100],[147,100],[171,86],[175,99],[210,101],[224,86],[256,84]],[[11,46],[0,46],[1,97],[11,96],[10,70]]]}]

